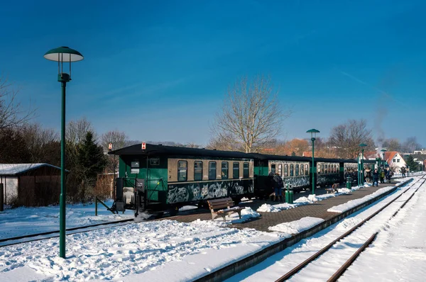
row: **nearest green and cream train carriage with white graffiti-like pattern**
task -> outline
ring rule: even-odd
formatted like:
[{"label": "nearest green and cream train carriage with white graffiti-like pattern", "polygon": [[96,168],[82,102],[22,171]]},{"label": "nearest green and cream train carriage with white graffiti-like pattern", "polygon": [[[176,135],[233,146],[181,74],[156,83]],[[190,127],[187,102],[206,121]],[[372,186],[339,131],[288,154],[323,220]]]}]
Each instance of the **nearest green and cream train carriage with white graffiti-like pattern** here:
[{"label": "nearest green and cream train carriage with white graffiti-like pattern", "polygon": [[183,205],[254,195],[253,158],[241,152],[146,144],[109,154],[119,155],[116,210],[176,213]]}]

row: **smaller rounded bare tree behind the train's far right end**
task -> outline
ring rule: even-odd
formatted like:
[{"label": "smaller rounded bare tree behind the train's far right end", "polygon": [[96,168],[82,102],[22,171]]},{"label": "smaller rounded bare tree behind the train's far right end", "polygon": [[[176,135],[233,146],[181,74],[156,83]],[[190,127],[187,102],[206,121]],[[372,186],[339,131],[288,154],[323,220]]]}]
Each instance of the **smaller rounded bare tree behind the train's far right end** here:
[{"label": "smaller rounded bare tree behind the train's far right end", "polygon": [[335,147],[339,157],[353,159],[361,150],[359,145],[368,145],[366,150],[374,148],[371,130],[367,128],[366,120],[348,120],[342,125],[332,128],[329,137],[329,145]]}]

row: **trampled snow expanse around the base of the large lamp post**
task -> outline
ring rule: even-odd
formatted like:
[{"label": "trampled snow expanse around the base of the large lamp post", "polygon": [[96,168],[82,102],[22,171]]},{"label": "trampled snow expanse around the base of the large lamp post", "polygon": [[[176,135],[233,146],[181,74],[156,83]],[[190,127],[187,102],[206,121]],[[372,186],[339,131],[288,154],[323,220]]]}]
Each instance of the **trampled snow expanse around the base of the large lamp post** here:
[{"label": "trampled snow expanse around the base of the large lamp post", "polygon": [[[67,259],[58,256],[58,238],[3,247],[0,280],[22,275],[43,281],[122,280],[134,274],[138,281],[159,281],[162,275],[168,276],[165,281],[187,281],[282,239],[275,233],[221,228],[211,220],[131,223],[67,236]],[[164,266],[167,271],[160,270]]]}]

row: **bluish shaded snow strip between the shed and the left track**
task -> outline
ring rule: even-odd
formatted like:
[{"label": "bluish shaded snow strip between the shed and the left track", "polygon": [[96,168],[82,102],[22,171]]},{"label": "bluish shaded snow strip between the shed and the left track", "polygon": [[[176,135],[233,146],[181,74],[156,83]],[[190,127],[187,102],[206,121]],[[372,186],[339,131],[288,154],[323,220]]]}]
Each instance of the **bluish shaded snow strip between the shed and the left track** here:
[{"label": "bluish shaded snow strip between the shed and the left track", "polygon": [[[105,201],[109,207],[113,201]],[[94,203],[66,206],[67,228],[92,225],[107,221],[134,217],[134,210],[112,214],[103,205],[98,205],[94,215]],[[0,212],[0,239],[59,230],[59,205],[38,208],[11,208]]]}]

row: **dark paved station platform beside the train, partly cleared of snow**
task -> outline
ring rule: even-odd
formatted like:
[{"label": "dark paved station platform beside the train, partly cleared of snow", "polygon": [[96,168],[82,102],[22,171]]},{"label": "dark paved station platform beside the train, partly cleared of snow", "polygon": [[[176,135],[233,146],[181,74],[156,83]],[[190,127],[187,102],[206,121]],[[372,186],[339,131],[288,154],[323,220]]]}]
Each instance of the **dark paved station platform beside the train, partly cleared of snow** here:
[{"label": "dark paved station platform beside the train, partly cleared of snow", "polygon": [[[343,194],[338,195],[332,198],[327,198],[322,201],[317,201],[315,203],[310,203],[308,205],[300,205],[296,208],[290,208],[288,210],[281,210],[279,212],[275,213],[262,213],[261,217],[259,218],[253,218],[253,220],[241,222],[241,223],[234,223],[232,225],[229,225],[229,227],[234,228],[253,228],[258,231],[264,231],[264,232],[271,232],[271,230],[268,230],[268,227],[278,225],[283,222],[291,222],[294,220],[300,220],[301,218],[305,217],[313,217],[313,218],[322,218],[324,220],[330,220],[334,218],[337,213],[330,213],[327,212],[329,208],[332,208],[336,205],[341,205],[343,203],[347,203],[348,201],[363,198],[364,196],[368,196],[371,193],[376,192],[378,189],[386,187],[386,186],[395,186],[397,182],[393,181],[391,184],[378,184],[378,187],[363,187],[359,190],[353,191],[350,194]],[[342,185],[340,188],[344,188]],[[295,194],[295,199],[300,198],[302,196],[307,197],[310,193],[310,191],[306,191],[304,193],[297,193]],[[324,194],[326,193],[324,188],[318,188],[315,191],[316,195]],[[278,202],[275,201],[248,201],[248,202],[241,202],[239,203],[240,207],[250,207],[252,210],[257,210],[261,205],[264,203],[268,203],[271,205],[276,205]],[[180,222],[192,222],[194,220],[212,220],[212,215],[210,213],[210,210],[208,209],[197,209],[194,213],[189,213],[186,215],[177,215],[173,218],[170,218],[173,220],[177,220]]]}]

